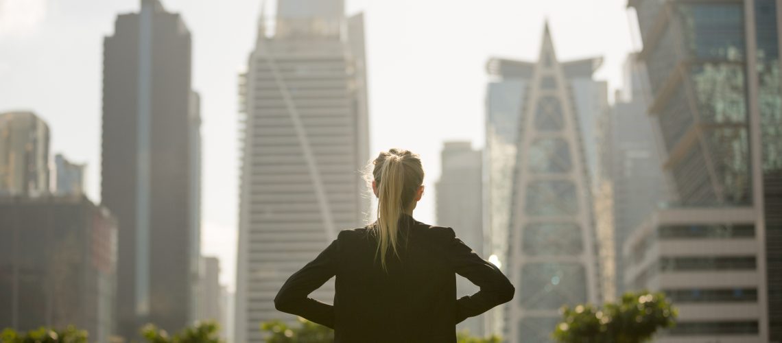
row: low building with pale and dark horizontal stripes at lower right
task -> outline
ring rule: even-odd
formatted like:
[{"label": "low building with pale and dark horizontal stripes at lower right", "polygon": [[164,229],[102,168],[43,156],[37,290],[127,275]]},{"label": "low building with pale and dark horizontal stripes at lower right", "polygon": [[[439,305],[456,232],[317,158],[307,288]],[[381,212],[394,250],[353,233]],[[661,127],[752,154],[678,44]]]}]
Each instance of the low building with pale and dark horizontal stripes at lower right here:
[{"label": "low building with pale and dark horizontal stripes at lower right", "polygon": [[663,291],[679,311],[661,343],[765,342],[751,207],[660,209],[622,249],[626,288]]}]

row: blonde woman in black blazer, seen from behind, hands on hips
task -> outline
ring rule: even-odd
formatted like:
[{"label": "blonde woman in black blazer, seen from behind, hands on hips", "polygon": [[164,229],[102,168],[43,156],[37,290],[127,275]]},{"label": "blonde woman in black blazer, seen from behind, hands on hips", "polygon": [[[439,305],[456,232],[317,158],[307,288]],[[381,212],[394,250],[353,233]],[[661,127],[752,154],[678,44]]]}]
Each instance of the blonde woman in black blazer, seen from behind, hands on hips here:
[{"label": "blonde woman in black blazer, seen from behind, hands on hips", "polygon": [[[454,342],[456,323],[510,301],[513,285],[450,227],[413,219],[424,192],[418,155],[391,149],[373,164],[377,221],[340,232],[285,282],[274,305],[333,328],[335,342]],[[457,299],[455,273],[480,291]],[[334,276],[334,305],[307,297]]]}]

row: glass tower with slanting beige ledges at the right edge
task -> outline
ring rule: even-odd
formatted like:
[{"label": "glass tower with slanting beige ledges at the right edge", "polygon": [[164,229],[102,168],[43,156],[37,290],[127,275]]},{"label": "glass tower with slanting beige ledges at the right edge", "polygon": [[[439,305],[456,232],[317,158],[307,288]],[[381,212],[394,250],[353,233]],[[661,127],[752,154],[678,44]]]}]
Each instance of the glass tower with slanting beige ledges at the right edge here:
[{"label": "glass tower with slanting beige ledges at the right edge", "polygon": [[[751,207],[752,288],[759,316],[741,334],[782,341],[782,109],[777,2],[631,1],[638,15],[658,120],[663,169],[676,208]],[[725,223],[727,225],[728,223]],[[719,253],[719,252],[715,252]],[[745,280],[749,282],[750,280]],[[730,291],[712,285],[700,291]],[[711,305],[719,305],[715,300]],[[680,324],[698,337],[741,327],[703,309]],[[738,330],[738,329],[737,329]],[[722,340],[723,338],[720,338]]]}]

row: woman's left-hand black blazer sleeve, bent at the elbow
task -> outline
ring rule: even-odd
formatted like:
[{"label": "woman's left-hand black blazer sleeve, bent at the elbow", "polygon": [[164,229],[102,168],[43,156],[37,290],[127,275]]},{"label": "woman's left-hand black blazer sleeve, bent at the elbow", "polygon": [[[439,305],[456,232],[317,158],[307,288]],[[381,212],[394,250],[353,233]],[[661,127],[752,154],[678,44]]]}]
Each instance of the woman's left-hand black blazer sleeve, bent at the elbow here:
[{"label": "woman's left-hand black blazer sleeve, bent at the elbow", "polygon": [[274,298],[274,308],[333,329],[334,306],[308,295],[335,276],[338,252],[339,241],[332,241],[312,262],[293,273]]}]

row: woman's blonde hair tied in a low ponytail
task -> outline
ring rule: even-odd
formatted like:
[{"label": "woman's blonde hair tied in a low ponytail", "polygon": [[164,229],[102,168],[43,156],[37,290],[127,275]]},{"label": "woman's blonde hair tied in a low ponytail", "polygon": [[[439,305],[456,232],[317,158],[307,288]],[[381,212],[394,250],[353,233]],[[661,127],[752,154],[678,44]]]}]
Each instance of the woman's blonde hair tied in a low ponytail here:
[{"label": "woman's blonde hair tied in a low ponytail", "polygon": [[372,180],[378,188],[378,218],[374,224],[378,237],[378,250],[375,258],[380,257],[380,265],[386,268],[386,256],[393,252],[399,257],[398,244],[399,220],[404,210],[414,201],[418,188],[424,182],[424,169],[421,157],[408,150],[392,148],[380,152],[372,161]]}]

